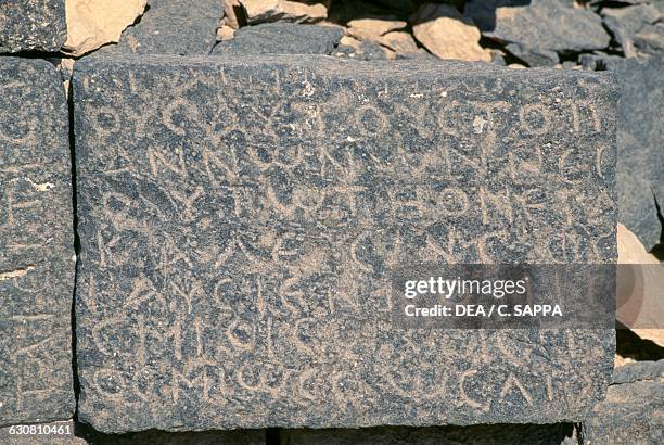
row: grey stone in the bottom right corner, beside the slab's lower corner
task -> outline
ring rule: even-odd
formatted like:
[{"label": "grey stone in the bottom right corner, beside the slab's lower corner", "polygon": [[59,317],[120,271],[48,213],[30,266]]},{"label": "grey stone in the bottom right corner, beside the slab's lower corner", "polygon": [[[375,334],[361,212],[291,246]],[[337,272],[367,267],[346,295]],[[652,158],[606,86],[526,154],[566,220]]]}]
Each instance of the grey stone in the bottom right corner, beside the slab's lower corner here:
[{"label": "grey stone in the bottom right corner, beside the slab's lower corner", "polygon": [[[664,361],[625,365],[622,380],[584,422],[585,444],[661,444],[664,442]],[[655,369],[656,368],[656,369]],[[659,371],[659,374],[653,371]],[[654,378],[653,378],[654,377]]]}]

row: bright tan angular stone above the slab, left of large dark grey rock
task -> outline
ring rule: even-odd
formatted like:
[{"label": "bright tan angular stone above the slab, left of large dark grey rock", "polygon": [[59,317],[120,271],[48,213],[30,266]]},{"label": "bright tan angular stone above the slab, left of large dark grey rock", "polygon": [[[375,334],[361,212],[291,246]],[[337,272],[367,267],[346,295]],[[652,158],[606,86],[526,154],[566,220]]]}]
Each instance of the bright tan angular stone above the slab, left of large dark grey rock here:
[{"label": "bright tan angular stone above the slab, left of large dark grey rock", "polygon": [[414,25],[412,34],[438,58],[485,62],[491,60],[490,54],[480,46],[480,29],[454,7],[425,4],[416,15],[425,17],[425,21]]}]

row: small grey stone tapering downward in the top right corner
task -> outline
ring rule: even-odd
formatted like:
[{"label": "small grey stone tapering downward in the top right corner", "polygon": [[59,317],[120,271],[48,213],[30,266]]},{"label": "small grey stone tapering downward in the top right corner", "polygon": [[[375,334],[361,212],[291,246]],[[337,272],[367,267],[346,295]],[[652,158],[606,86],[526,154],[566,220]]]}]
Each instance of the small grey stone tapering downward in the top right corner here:
[{"label": "small grey stone tapering downward in the top right corner", "polygon": [[602,16],[604,25],[613,34],[625,56],[635,58],[635,35],[644,26],[655,23],[660,18],[660,12],[650,4],[639,4],[629,8],[604,8]]}]

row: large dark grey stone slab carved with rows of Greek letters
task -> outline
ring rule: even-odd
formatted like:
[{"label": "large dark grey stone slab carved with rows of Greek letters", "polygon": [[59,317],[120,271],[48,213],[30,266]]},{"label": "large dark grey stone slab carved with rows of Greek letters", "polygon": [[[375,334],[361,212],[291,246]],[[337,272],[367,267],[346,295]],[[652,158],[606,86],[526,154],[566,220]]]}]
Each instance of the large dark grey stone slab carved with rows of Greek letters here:
[{"label": "large dark grey stone slab carved with rows of Greek letters", "polygon": [[95,429],[541,423],[603,397],[613,330],[399,330],[388,295],[404,263],[615,260],[608,75],[263,55],[73,81]]}]

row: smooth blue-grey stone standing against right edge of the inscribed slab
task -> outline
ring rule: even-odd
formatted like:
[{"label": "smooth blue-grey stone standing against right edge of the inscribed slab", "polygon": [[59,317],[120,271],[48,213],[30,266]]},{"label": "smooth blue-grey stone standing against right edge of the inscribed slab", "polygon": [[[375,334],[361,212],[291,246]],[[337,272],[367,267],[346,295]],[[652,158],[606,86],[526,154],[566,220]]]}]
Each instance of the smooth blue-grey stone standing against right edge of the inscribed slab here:
[{"label": "smooth blue-grey stone standing against right edge of the inscribed slab", "polygon": [[662,232],[653,194],[664,203],[664,58],[611,58],[603,65],[616,74],[621,87],[618,220],[650,250]]}]

